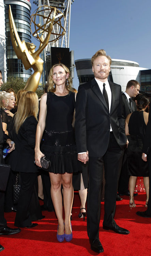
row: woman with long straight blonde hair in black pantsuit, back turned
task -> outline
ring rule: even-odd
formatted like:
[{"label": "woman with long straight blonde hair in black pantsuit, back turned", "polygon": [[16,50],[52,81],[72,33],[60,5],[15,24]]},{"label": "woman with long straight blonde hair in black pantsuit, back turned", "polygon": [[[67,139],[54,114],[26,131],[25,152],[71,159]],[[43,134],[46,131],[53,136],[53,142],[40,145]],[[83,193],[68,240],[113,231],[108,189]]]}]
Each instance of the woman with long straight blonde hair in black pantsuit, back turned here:
[{"label": "woman with long straight blonde hair in black pantsuit, back turned", "polygon": [[[14,225],[32,228],[35,219],[42,219],[39,202],[30,207],[34,185],[37,179],[37,166],[34,164],[35,134],[38,114],[38,97],[36,93],[27,91],[19,101],[18,110],[12,120],[13,141],[15,150],[9,155],[9,163],[13,171],[20,172],[21,189],[17,204]],[[34,201],[38,201],[35,198]]]}]

